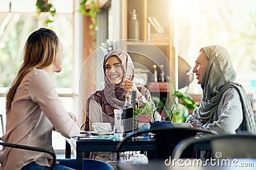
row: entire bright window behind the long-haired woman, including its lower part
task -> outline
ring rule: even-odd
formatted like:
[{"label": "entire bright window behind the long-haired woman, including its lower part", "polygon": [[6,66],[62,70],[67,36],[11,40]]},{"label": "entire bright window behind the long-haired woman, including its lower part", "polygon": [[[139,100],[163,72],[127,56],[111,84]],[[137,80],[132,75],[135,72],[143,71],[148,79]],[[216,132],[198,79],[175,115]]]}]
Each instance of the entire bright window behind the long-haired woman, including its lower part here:
[{"label": "entire bright window behind the long-haired woman, including its lower part", "polygon": [[[10,4],[12,2],[12,4]],[[61,39],[64,59],[62,71],[52,74],[57,92],[67,111],[74,113],[77,108],[74,101],[77,94],[74,92],[74,13],[73,1],[52,0],[56,7],[56,15],[51,25],[45,25],[45,13],[40,16],[36,13],[36,0],[33,1],[3,1],[0,0],[0,113],[5,116],[4,95],[10,83],[15,78],[22,64],[23,49],[29,34],[39,27],[50,27]],[[46,16],[47,17],[47,16]],[[77,102],[76,102],[77,103]],[[5,122],[5,121],[4,121]],[[60,138],[54,132],[52,140],[54,149],[65,149],[65,138]]]}]

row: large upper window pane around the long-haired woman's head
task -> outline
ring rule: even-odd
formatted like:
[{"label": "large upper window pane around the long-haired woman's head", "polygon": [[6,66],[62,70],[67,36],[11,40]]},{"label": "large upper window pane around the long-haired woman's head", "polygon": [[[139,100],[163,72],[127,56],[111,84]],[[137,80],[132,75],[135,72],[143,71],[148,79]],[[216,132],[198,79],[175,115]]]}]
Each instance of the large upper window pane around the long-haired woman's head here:
[{"label": "large upper window pane around the long-haired woman's head", "polygon": [[[44,25],[36,15],[6,13],[0,15],[0,87],[9,87],[22,64],[23,49],[29,34]],[[44,26],[45,27],[45,26]],[[72,15],[56,15],[52,24],[63,44],[62,71],[53,74],[56,87],[72,88],[73,25]]]}]

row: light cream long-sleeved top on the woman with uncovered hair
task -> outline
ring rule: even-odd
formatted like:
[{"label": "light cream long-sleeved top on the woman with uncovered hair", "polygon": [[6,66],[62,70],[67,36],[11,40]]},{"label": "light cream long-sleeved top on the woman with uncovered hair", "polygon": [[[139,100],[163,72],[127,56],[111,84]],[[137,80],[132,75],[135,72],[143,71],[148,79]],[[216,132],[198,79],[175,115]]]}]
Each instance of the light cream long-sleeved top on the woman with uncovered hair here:
[{"label": "light cream long-sleeved top on the woman with uncovered hair", "polygon": [[[33,69],[21,81],[6,114],[6,133],[3,141],[20,145],[52,148],[52,130],[70,138],[79,134],[79,124],[65,111],[54,87],[51,76],[40,69]],[[31,152],[4,147],[0,150],[0,169],[20,169],[35,161],[50,166],[48,153]]]}]

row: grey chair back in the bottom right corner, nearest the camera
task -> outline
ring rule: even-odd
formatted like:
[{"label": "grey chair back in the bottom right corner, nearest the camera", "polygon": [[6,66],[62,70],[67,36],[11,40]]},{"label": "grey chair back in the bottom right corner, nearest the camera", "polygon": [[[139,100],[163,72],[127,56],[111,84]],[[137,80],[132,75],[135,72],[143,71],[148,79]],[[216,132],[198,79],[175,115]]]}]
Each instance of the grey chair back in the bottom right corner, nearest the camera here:
[{"label": "grey chair back in the bottom right corner, nearest the camera", "polygon": [[186,148],[205,141],[209,143],[214,158],[256,158],[256,136],[250,134],[221,134],[207,135],[204,138],[186,138],[175,146],[172,158],[180,159]]}]

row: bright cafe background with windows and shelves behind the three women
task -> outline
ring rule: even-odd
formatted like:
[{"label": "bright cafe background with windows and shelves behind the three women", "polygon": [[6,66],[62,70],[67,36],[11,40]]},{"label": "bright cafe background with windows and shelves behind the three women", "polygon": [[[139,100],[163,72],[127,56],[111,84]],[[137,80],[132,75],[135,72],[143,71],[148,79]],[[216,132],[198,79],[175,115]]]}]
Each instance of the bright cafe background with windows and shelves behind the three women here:
[{"label": "bright cafe background with windows and shelves behind the three women", "polygon": [[[102,63],[111,50],[129,53],[136,85],[147,87],[156,107],[172,108],[172,123],[182,125],[200,105],[202,97],[202,88],[193,73],[200,48],[223,46],[236,70],[236,81],[246,90],[255,114],[256,1],[0,0],[0,3],[2,134],[6,121],[5,93],[22,62],[26,39],[39,27],[49,27],[61,39],[63,69],[52,78],[65,109],[74,113],[81,125],[86,99],[104,87]],[[52,145],[57,158],[65,157],[67,140],[58,132],[53,132]],[[218,147],[225,148],[221,144]],[[72,147],[71,157],[76,158],[76,149]],[[130,167],[123,167],[126,168]]]}]

